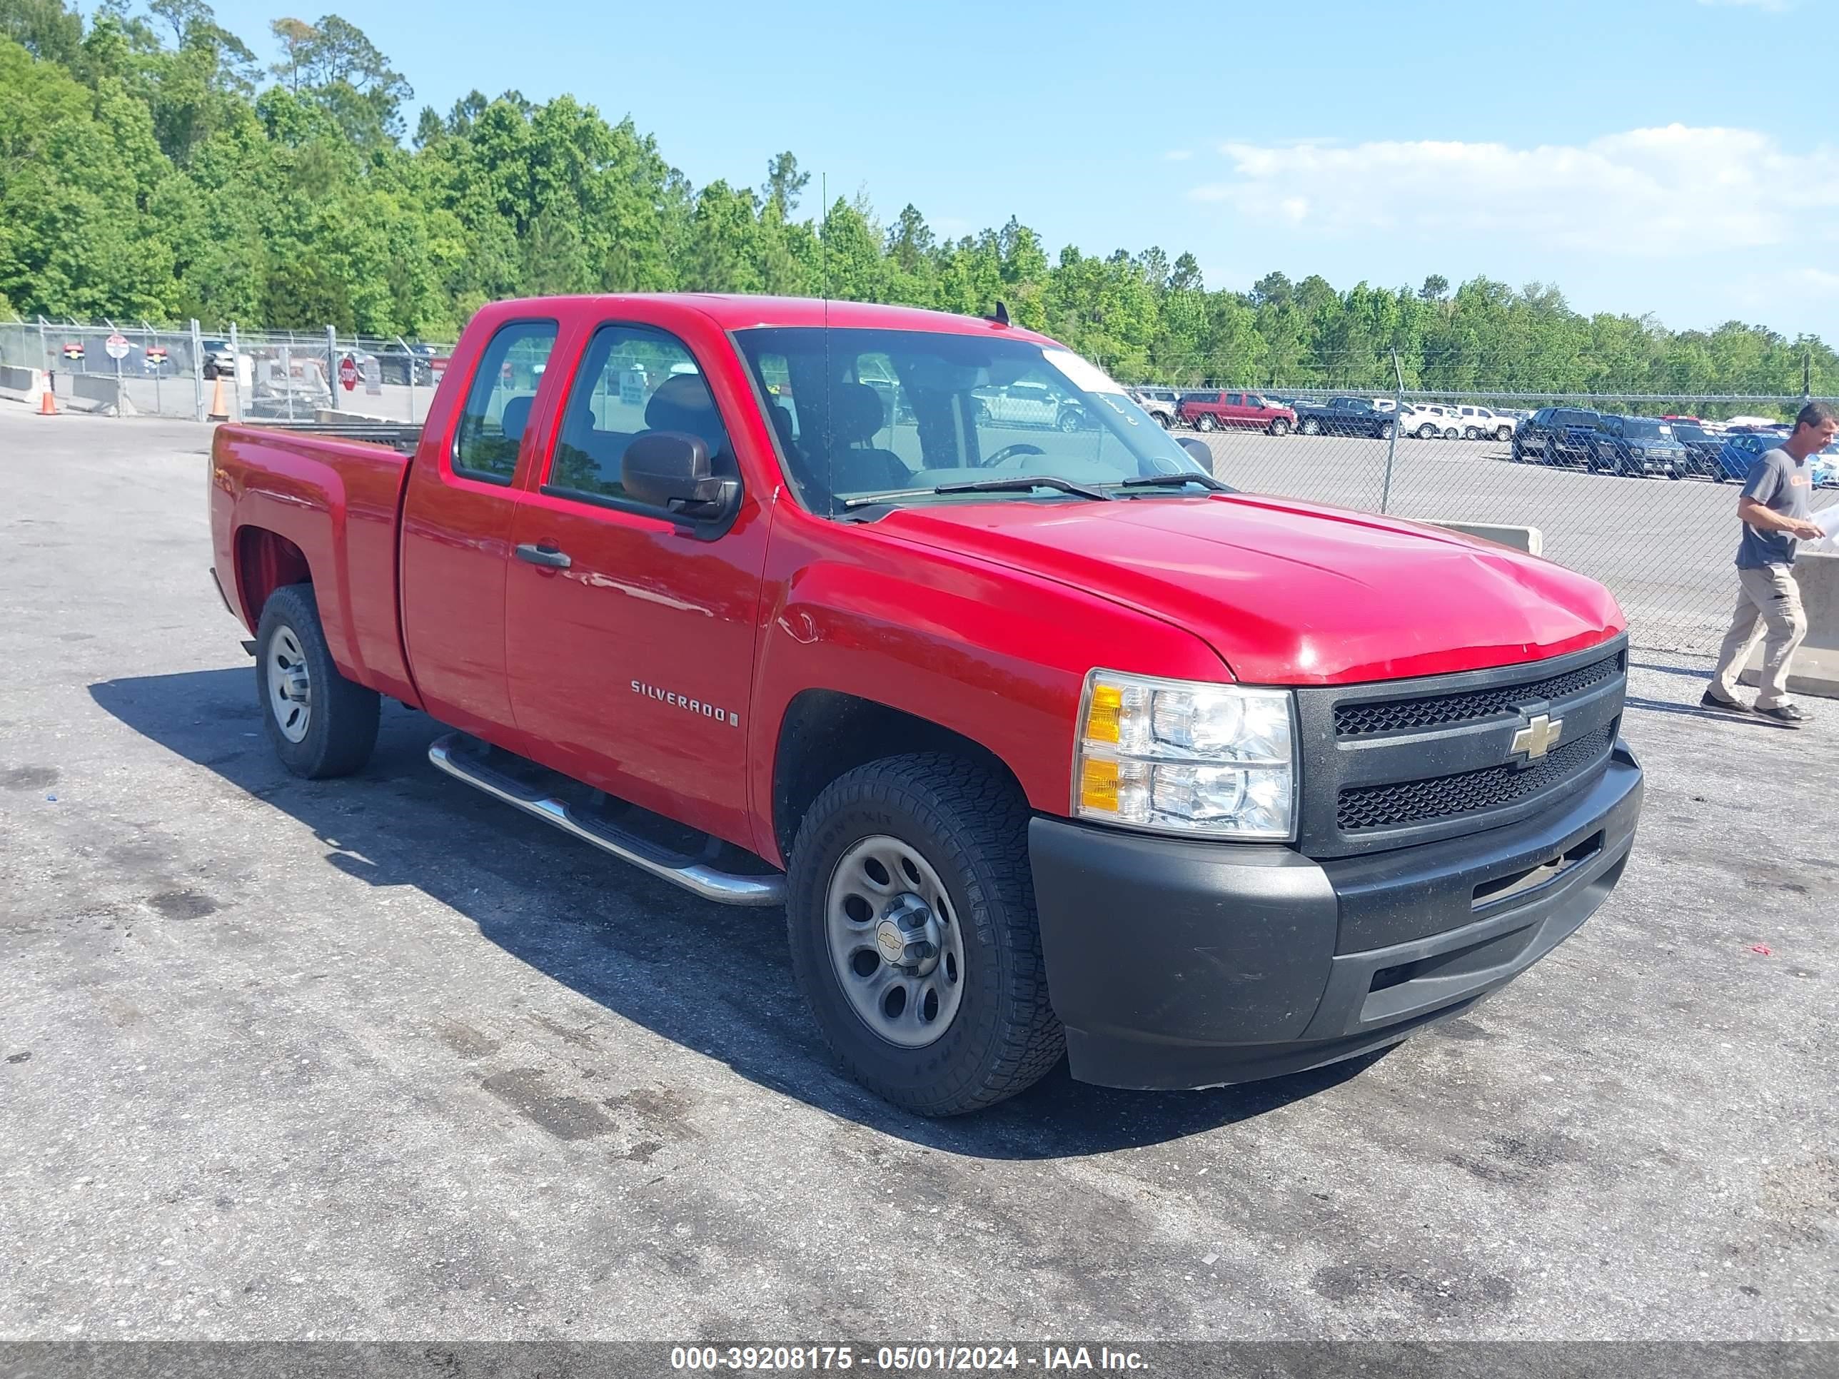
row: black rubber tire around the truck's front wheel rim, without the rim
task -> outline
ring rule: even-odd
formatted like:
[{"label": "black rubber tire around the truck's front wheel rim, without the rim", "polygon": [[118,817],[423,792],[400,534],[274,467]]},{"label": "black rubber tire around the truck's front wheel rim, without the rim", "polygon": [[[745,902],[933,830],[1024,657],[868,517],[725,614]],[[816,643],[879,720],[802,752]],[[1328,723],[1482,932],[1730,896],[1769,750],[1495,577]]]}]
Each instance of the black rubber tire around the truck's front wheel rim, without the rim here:
[{"label": "black rubber tire around the truck's front wheel rim, without the rim", "polygon": [[[844,995],[826,934],[831,875],[862,838],[886,833],[938,873],[964,943],[964,993],[931,1044],[885,1039]],[[793,846],[785,901],[793,974],[824,1043],[870,1090],[925,1116],[995,1105],[1039,1081],[1065,1054],[1048,1004],[1028,803],[991,770],[927,752],[857,767],[813,802]]]}]

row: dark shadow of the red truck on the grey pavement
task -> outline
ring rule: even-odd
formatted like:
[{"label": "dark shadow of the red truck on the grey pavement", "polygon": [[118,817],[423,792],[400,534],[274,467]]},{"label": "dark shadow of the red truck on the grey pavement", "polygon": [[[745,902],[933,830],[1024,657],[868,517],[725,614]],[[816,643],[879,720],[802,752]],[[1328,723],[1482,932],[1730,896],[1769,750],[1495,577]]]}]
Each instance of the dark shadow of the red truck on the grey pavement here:
[{"label": "dark shadow of the red truck on the grey pavement", "polygon": [[432,719],[386,704],[362,772],[303,781],[261,735],[248,669],[105,680],[90,695],[134,732],[311,827],[327,866],[373,886],[414,886],[623,1019],[763,1087],[934,1149],[1054,1158],[1160,1144],[1326,1090],[1383,1055],[1175,1094],[1085,1087],[1063,1059],[991,1111],[910,1116],[833,1068],[793,986],[780,910],[699,901],[441,774],[427,761],[445,732]]}]

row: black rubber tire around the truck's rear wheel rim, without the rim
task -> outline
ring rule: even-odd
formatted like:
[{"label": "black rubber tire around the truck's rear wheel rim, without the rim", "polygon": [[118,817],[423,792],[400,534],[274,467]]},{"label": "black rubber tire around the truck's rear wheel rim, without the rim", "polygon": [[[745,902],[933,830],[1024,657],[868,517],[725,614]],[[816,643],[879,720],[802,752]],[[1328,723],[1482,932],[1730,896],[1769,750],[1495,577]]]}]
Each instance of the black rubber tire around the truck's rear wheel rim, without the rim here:
[{"label": "black rubber tire around the truck's rear wheel rim, without the rim", "polygon": [[[298,640],[313,688],[305,737],[298,743],[281,732],[268,693],[268,660],[274,640],[283,629]],[[261,621],[256,625],[256,702],[261,704],[268,745],[281,758],[281,765],[296,776],[307,780],[349,776],[370,761],[377,746],[381,695],[338,673],[333,653],[326,647],[313,585],[283,585],[261,609]]]}]

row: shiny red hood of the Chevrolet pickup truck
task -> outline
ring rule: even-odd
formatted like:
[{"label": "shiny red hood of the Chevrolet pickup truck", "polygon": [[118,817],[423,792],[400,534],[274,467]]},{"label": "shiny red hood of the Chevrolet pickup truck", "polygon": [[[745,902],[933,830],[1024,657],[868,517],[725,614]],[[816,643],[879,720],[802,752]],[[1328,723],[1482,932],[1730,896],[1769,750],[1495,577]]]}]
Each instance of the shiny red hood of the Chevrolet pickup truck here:
[{"label": "shiny red hood of the Chevrolet pickup truck", "polygon": [[877,528],[1186,627],[1245,684],[1512,666],[1624,627],[1609,590],[1548,561],[1285,498],[916,506]]}]

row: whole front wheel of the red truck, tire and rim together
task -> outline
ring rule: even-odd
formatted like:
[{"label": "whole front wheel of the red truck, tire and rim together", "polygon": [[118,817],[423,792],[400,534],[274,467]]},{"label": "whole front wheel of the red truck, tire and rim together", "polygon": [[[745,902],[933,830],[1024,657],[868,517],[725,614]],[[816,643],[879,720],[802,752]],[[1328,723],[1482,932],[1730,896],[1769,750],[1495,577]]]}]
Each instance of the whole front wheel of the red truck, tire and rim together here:
[{"label": "whole front wheel of the red truck, tire and rim together", "polygon": [[1048,1004],[1028,805],[945,754],[870,761],[798,829],[793,974],[857,1081],[927,1116],[1032,1087],[1065,1052]]}]

